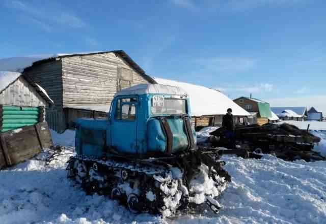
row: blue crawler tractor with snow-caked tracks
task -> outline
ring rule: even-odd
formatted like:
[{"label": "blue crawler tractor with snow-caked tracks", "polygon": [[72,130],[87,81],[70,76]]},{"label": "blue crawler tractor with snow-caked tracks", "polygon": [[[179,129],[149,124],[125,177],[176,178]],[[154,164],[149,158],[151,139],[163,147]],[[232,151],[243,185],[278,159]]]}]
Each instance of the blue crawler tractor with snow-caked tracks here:
[{"label": "blue crawler tractor with snow-caked tracks", "polygon": [[187,93],[140,84],[115,94],[106,119],[78,119],[68,178],[131,212],[174,216],[217,197],[231,178],[217,153],[200,150]]}]

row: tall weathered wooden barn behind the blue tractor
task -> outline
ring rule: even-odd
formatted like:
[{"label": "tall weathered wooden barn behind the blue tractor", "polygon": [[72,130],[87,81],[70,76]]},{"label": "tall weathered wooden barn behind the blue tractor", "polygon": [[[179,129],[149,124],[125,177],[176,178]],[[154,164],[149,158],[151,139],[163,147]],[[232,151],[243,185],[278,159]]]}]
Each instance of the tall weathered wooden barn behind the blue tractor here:
[{"label": "tall weathered wooden barn behind the blue tractor", "polygon": [[59,133],[79,117],[103,117],[114,94],[141,83],[156,83],[123,50],[57,54],[25,68],[55,102],[49,126]]}]

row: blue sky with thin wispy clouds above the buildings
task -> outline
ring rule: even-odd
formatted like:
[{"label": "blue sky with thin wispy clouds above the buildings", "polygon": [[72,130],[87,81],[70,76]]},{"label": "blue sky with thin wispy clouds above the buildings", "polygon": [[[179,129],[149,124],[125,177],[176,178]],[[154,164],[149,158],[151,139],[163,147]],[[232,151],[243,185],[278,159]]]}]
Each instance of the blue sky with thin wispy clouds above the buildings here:
[{"label": "blue sky with thin wispy clouds above the buildings", "polygon": [[326,113],[326,1],[0,1],[0,58],[125,50],[147,74]]}]

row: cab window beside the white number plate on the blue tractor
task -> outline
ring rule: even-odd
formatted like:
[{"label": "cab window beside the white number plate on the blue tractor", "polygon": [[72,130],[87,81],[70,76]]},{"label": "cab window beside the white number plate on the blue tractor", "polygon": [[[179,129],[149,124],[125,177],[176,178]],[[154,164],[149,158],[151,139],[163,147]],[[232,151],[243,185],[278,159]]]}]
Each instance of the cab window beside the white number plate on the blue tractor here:
[{"label": "cab window beside the white number plate on the blue tractor", "polygon": [[175,98],[164,98],[155,95],[152,98],[151,112],[154,115],[186,114],[186,100]]}]

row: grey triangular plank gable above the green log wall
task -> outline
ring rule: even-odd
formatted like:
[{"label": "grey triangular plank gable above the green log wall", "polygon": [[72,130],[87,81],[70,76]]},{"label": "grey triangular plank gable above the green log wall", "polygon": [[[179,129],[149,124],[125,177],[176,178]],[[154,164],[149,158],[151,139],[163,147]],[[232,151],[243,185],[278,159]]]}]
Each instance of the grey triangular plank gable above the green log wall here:
[{"label": "grey triangular plank gable above the green log wall", "polygon": [[0,105],[48,107],[48,103],[23,77],[19,77],[0,93]]}]

